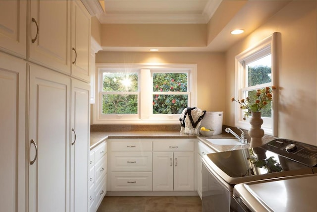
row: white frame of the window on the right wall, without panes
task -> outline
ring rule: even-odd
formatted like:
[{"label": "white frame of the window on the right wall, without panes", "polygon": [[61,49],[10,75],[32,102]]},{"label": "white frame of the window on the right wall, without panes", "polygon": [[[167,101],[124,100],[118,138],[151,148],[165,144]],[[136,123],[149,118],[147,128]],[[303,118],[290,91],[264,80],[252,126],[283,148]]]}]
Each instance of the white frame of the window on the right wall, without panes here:
[{"label": "white frame of the window on the right wall, without panes", "polygon": [[[269,37],[265,38],[257,45],[247,49],[246,51],[240,53],[235,57],[235,97],[245,98],[244,92],[247,90],[257,89],[258,86],[250,86],[245,88],[246,84],[246,67],[245,62],[254,61],[262,58],[264,55],[267,55],[269,51],[271,54],[271,74],[272,81],[270,83],[262,84],[261,87],[264,86],[276,86],[277,87],[277,54],[276,54],[276,36],[277,33],[273,33]],[[264,133],[270,136],[277,136],[277,99],[278,92],[274,90],[273,92],[273,101],[272,101],[272,118],[262,117],[264,120],[264,124],[262,125],[262,129],[264,129]],[[240,109],[239,104],[235,103],[235,126],[249,130],[251,128],[250,120],[247,118],[243,120],[243,110]]]}]

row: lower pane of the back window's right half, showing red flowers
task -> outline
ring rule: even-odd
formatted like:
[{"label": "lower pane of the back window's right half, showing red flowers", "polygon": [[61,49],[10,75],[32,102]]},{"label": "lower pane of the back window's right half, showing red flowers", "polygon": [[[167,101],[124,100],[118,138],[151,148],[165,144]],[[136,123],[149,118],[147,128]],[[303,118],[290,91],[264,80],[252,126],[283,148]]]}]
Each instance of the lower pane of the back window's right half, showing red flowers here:
[{"label": "lower pane of the back window's right half, showing red flowers", "polygon": [[153,114],[181,114],[187,107],[188,95],[153,95]]}]

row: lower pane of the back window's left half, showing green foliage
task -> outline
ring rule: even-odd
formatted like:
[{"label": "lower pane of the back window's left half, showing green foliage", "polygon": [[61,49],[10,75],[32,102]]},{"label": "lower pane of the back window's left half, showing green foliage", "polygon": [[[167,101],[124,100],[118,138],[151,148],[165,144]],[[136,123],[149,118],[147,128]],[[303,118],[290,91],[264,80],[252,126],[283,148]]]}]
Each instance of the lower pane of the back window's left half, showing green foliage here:
[{"label": "lower pane of the back window's left half, showing green foliage", "polygon": [[138,95],[103,95],[103,114],[137,114]]}]

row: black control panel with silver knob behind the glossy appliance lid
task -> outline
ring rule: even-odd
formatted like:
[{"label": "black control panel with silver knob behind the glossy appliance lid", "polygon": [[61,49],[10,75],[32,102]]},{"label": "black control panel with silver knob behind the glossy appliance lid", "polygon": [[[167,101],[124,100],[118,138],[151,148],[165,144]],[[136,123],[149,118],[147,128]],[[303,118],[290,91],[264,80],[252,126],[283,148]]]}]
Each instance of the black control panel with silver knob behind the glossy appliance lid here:
[{"label": "black control panel with silver knob behind the glossy appliance lid", "polygon": [[309,167],[317,167],[317,146],[287,139],[274,139],[261,147]]}]

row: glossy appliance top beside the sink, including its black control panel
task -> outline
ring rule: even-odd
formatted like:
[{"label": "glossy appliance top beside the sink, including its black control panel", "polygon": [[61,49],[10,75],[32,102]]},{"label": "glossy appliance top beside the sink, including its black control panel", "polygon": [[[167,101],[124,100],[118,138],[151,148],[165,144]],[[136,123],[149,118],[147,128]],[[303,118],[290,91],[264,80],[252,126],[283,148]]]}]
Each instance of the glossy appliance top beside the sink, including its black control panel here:
[{"label": "glossy appliance top beside the sink, including its black control panel", "polygon": [[[285,149],[280,149],[290,143],[290,140],[276,139],[261,147],[216,152],[207,154],[204,158],[209,166],[230,184],[313,173],[311,165],[314,162],[316,163],[316,159],[314,158],[317,154],[317,146],[307,144],[308,147],[306,147],[306,144],[300,143],[298,145],[299,143],[294,141],[295,145],[299,146],[298,149],[301,149],[299,155],[296,151],[289,153]],[[268,148],[271,148],[273,151],[264,149],[266,146],[269,146]],[[274,151],[278,151],[279,153]],[[307,156],[303,156],[303,152],[308,152],[309,157],[312,157],[308,158],[309,164],[303,164],[303,161],[307,159]],[[304,159],[298,162],[298,157]]]}]

